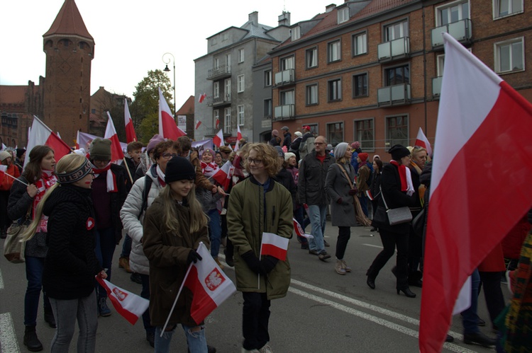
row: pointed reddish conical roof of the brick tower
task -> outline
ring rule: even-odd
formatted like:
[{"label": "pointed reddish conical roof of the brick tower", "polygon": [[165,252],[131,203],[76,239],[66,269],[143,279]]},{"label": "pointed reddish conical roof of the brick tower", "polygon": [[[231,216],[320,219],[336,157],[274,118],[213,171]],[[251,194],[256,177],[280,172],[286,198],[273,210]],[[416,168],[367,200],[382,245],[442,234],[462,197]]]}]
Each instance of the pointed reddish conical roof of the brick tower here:
[{"label": "pointed reddish conical roof of the brick tower", "polygon": [[94,38],[85,27],[82,15],[79,13],[74,0],[65,0],[55,21],[48,32],[43,34],[43,37],[50,35],[79,35],[94,42]]}]

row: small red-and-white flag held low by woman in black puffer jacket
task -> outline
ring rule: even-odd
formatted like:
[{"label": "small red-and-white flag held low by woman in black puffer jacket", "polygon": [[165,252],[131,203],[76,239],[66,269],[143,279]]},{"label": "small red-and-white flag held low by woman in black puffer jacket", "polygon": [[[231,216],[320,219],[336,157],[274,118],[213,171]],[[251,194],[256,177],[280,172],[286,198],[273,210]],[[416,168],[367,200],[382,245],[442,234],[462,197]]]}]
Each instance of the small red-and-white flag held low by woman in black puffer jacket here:
[{"label": "small red-and-white flag held low by woman in black puffer jacket", "polygon": [[131,325],[135,325],[138,318],[148,310],[150,306],[150,301],[144,299],[141,296],[131,293],[131,291],[126,291],[120,287],[116,287],[111,282],[106,279],[101,279],[96,276],[96,281],[105,288],[107,296],[111,299],[114,308],[118,313],[128,320]]}]

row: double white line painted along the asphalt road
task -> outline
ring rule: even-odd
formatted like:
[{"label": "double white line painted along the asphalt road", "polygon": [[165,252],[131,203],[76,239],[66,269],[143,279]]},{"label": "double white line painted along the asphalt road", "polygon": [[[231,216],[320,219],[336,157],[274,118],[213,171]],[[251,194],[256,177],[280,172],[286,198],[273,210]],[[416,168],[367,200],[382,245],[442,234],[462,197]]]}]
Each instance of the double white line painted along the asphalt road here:
[{"label": "double white line painted along the asphalt road", "polygon": [[[388,320],[384,320],[382,318],[377,318],[376,316],[372,316],[370,314],[364,313],[362,311],[358,311],[356,309],[350,308],[348,306],[336,303],[335,301],[330,301],[328,299],[323,299],[321,296],[315,296],[314,294],[309,294],[306,291],[300,291],[299,289],[295,289],[292,287],[289,287],[288,291],[291,293],[297,294],[299,296],[303,296],[306,299],[310,299],[313,301],[316,301],[321,304],[327,304],[328,306],[331,306],[332,308],[336,308],[340,311],[343,311],[345,313],[349,313],[353,316],[358,316],[359,318],[362,318],[364,320],[371,321],[372,323],[376,323],[377,325],[382,325],[386,328],[396,330],[397,332],[404,333],[405,335],[409,335],[411,337],[418,338],[419,334],[416,330],[411,330],[410,328],[405,328],[404,326],[397,325],[397,323],[392,323]],[[475,351],[471,351],[469,349],[466,349],[464,347],[460,347],[458,345],[453,345],[452,343],[445,343],[443,345],[445,349],[449,349],[453,352],[467,352],[467,353],[475,353]]]}]

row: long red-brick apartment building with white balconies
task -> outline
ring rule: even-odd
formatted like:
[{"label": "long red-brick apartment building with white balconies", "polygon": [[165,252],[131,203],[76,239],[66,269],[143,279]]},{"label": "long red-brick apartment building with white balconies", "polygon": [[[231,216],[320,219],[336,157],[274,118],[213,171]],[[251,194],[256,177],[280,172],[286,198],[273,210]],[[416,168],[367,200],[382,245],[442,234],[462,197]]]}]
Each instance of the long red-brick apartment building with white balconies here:
[{"label": "long red-brick apartment building with white balconies", "polygon": [[443,75],[442,32],[453,35],[532,101],[532,41],[523,0],[347,0],[326,6],[270,55],[272,128],[309,125],[336,145],[384,154],[431,143]]}]

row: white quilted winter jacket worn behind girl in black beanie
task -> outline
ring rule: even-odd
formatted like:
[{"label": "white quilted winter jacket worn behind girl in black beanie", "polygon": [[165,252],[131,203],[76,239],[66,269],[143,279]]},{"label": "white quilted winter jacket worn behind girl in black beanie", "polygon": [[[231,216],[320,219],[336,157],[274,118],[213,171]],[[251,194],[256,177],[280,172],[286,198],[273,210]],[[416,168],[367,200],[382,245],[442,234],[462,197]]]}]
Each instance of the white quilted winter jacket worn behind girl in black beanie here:
[{"label": "white quilted winter jacket worn behind girl in black beanie", "polygon": [[144,214],[140,217],[138,216],[140,214],[140,207],[142,207],[143,204],[145,178],[152,179],[146,208],[150,207],[153,200],[159,196],[162,186],[157,179],[155,168],[150,168],[148,173],[135,181],[135,184],[131,187],[126,202],[123,203],[120,211],[120,218],[124,230],[126,230],[126,233],[128,233],[132,240],[131,254],[129,255],[129,266],[131,267],[131,270],[141,274],[150,274],[150,265],[148,264],[148,258],[144,255],[142,244]]}]

